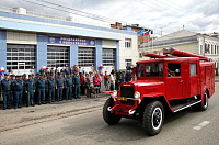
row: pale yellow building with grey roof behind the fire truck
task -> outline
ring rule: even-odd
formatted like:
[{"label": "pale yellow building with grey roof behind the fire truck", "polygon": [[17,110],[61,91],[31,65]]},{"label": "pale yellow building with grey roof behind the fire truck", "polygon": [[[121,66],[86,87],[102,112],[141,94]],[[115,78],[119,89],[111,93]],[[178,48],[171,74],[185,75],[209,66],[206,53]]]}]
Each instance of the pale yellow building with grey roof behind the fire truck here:
[{"label": "pale yellow building with grey roof behind the fire truck", "polygon": [[139,49],[139,59],[148,59],[143,57],[145,52],[160,52],[163,48],[173,47],[181,51],[207,56],[215,62],[216,69],[219,67],[219,35],[200,34],[181,30],[165,36],[159,37],[153,42],[145,43]]}]

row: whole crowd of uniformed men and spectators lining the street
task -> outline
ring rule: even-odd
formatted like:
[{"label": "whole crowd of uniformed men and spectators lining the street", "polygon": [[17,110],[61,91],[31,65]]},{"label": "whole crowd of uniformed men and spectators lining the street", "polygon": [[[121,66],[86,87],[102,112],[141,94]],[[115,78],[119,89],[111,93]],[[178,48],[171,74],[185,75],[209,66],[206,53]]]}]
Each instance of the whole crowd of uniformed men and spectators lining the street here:
[{"label": "whole crowd of uniformed men and spectators lining the street", "polygon": [[96,98],[101,92],[102,78],[106,91],[118,90],[122,82],[130,81],[131,74],[112,71],[108,75],[105,71],[102,77],[96,69],[90,72],[47,70],[28,75],[28,78],[26,74],[4,74],[4,78],[0,79],[0,98],[3,98],[3,110],[80,99],[81,94]]}]

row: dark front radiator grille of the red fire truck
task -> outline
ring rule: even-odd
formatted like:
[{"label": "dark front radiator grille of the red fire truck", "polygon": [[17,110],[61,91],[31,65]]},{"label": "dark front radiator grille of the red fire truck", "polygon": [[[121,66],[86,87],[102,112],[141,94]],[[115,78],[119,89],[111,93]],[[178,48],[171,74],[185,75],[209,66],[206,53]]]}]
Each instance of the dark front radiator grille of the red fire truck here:
[{"label": "dark front radiator grille of the red fire truck", "polygon": [[[130,86],[120,87],[120,97],[134,98],[135,88]],[[120,101],[122,104],[134,105],[135,100],[127,99],[127,101]]]}]

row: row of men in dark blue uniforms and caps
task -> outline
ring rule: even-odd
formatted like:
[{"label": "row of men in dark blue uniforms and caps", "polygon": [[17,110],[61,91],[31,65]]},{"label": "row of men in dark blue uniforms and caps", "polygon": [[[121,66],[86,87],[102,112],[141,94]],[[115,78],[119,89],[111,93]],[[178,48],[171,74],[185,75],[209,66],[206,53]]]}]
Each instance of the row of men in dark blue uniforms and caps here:
[{"label": "row of men in dark blue uniforms and caps", "polygon": [[[50,74],[44,76],[43,74],[16,76],[4,75],[4,79],[0,80],[0,94],[3,96],[3,110],[11,109],[11,104],[14,104],[14,109],[22,108],[22,100],[25,100],[26,107],[34,105],[35,100],[38,105],[45,104],[45,94],[48,96],[48,102],[55,102],[55,92],[57,101],[62,101],[62,92],[65,90],[65,99],[72,99],[72,89],[74,91],[74,99],[80,99],[80,75],[78,71],[74,75],[66,74],[66,77],[61,74]],[[23,98],[23,99],[22,99]]]}]

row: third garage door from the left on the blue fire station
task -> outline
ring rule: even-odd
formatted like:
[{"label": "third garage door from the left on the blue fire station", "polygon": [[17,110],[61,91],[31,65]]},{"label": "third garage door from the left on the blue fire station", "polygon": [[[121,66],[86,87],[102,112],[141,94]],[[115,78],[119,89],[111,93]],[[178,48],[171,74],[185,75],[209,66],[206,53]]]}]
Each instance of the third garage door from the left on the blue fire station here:
[{"label": "third garage door from the left on the blue fire station", "polygon": [[94,66],[94,58],[95,58],[94,55],[95,55],[94,48],[79,47],[79,52],[78,52],[79,66],[81,67]]}]

